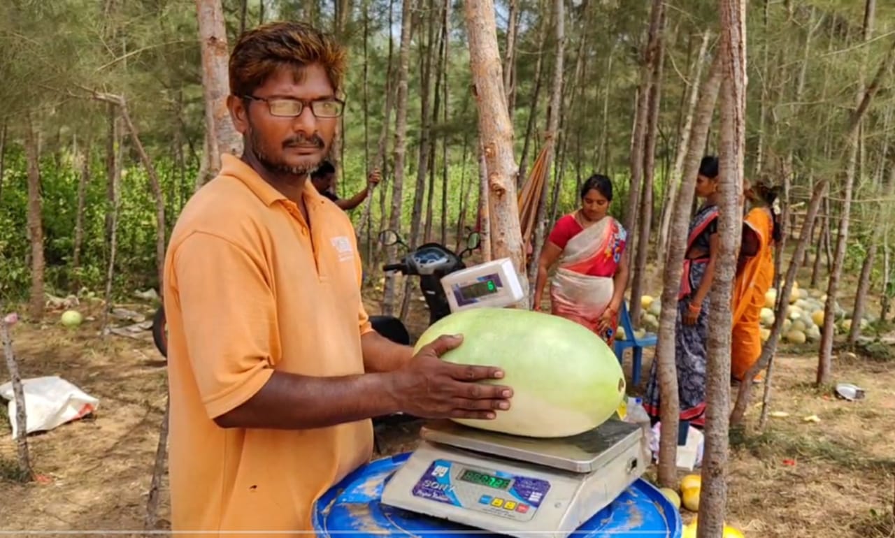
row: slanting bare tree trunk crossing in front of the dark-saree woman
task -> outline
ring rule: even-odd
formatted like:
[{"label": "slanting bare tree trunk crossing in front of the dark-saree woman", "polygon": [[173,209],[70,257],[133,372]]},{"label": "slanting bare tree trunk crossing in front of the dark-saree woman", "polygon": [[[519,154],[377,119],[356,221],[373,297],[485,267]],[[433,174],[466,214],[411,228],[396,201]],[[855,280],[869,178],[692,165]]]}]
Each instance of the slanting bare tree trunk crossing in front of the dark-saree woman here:
[{"label": "slanting bare tree trunk crossing in front of the dark-saree woman", "polygon": [[678,400],[678,372],[675,363],[675,324],[678,318],[678,290],[684,272],[686,254],[687,221],[695,197],[696,172],[703,156],[703,147],[709,136],[712,115],[718,101],[721,82],[721,56],[715,55],[709,76],[699,97],[690,147],[685,160],[684,174],[681,176],[678,199],[671,212],[669,250],[665,259],[665,273],[662,279],[661,315],[659,320],[659,341],[656,347],[656,367],[659,377],[661,397],[661,438],[659,441],[659,481],[667,487],[676,487],[678,422],[680,404]]}]

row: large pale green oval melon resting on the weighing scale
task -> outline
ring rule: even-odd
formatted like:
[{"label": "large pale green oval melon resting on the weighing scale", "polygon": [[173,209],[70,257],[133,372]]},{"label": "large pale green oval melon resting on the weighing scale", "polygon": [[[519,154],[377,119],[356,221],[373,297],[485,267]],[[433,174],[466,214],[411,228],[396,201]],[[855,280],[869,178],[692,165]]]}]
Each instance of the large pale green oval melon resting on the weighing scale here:
[{"label": "large pale green oval melon resting on the weighing scale", "polygon": [[416,350],[442,334],[463,343],[442,358],[498,366],[495,380],[514,391],[510,409],[490,420],[456,419],[492,432],[566,437],[603,424],[625,397],[618,358],[596,334],[558,315],[513,308],[473,308],[447,315],[422,333]]}]

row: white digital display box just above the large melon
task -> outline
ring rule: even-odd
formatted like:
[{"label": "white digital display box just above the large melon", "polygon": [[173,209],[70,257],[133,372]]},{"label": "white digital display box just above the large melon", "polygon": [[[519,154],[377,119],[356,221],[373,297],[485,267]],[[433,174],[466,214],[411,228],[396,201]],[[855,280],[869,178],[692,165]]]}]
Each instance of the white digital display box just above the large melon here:
[{"label": "white digital display box just above the large melon", "polygon": [[523,298],[522,284],[508,257],[447,274],[441,279],[441,286],[451,312],[508,307]]}]

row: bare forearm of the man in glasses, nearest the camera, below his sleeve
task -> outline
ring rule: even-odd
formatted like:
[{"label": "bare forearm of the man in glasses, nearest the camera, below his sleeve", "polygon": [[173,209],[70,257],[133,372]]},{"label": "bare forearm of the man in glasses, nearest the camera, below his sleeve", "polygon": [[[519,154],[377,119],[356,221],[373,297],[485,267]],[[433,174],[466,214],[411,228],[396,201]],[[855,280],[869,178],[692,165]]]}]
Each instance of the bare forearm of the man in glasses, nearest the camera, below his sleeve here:
[{"label": "bare forearm of the man in glasses, nearest the camera, below his sleeve", "polygon": [[274,372],[254,396],[215,418],[222,428],[304,430],[400,411],[388,374],[312,377]]}]

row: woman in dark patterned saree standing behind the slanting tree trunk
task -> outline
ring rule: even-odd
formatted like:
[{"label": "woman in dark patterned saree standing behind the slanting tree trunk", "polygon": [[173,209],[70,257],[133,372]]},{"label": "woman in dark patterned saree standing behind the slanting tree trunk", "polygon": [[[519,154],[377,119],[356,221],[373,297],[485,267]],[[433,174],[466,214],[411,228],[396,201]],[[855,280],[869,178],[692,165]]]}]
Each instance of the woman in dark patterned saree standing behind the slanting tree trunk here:
[{"label": "woman in dark patterned saree standing behind the slanting tree trunk", "polygon": [[[684,273],[678,291],[675,325],[675,362],[678,366],[680,419],[691,425],[705,424],[706,338],[709,323],[709,290],[718,256],[718,158],[703,157],[696,179],[695,195],[703,206],[690,223],[686,238]],[[652,361],[644,408],[659,419],[659,377]]]}]

